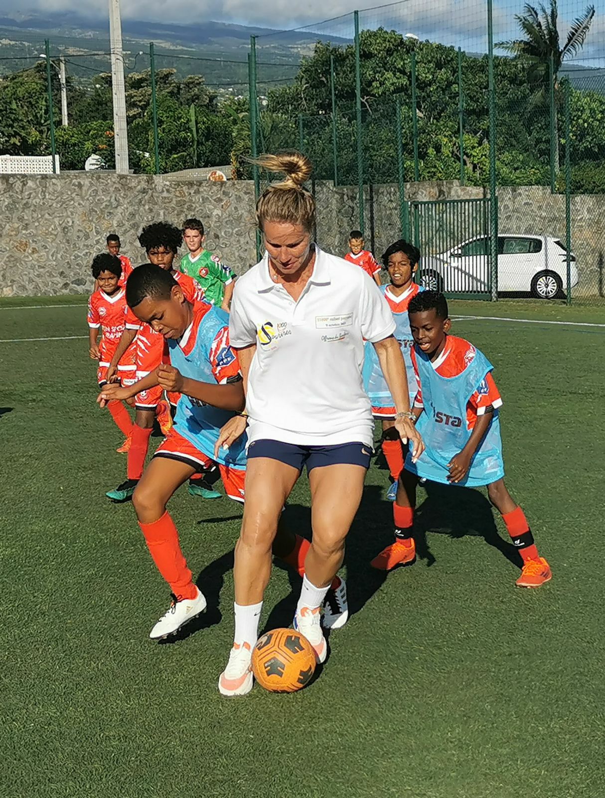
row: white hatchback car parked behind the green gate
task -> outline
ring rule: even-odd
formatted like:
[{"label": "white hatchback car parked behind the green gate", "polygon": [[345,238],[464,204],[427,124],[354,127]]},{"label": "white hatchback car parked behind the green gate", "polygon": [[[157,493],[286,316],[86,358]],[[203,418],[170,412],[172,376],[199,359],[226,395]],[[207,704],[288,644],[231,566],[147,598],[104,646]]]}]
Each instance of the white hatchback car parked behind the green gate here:
[{"label": "white hatchback car parked behind the green gate", "polygon": [[[455,294],[489,293],[489,235],[480,235],[442,255],[422,260],[422,285]],[[538,299],[562,298],[567,288],[567,250],[548,235],[498,234],[497,292],[530,292]],[[576,258],[570,256],[576,286]]]}]

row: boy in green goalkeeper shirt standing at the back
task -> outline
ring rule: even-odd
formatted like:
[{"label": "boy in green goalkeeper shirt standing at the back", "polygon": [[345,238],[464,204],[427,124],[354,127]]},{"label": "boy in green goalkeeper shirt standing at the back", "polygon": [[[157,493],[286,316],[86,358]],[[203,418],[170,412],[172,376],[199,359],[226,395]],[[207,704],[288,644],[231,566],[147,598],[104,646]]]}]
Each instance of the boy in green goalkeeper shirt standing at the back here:
[{"label": "boy in green goalkeeper shirt standing at the back", "polygon": [[204,226],[199,219],[185,219],[183,239],[189,254],[181,259],[179,270],[198,281],[204,290],[206,302],[229,313],[237,275],[221,263],[216,255],[204,249],[206,236]]}]

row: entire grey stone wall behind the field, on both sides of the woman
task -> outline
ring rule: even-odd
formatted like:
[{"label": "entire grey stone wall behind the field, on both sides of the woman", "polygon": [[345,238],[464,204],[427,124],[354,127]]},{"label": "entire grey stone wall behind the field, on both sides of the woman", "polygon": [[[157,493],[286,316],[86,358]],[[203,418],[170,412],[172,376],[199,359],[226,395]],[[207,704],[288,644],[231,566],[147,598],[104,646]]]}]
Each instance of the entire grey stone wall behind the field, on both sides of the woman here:
[{"label": "entire grey stone wall behind the field, on both sides of the woman", "polygon": [[[359,227],[357,189],[314,185],[321,247],[343,254],[348,232]],[[477,199],[483,189],[456,182],[407,184],[407,199]],[[137,235],[143,224],[166,219],[180,224],[189,215],[203,219],[207,247],[238,273],[256,261],[253,184],[208,183],[175,176],[64,172],[61,175],[0,176],[0,295],[86,293],[90,263],[116,231],[122,251],[143,262]],[[367,246],[379,255],[399,235],[396,184],[366,187]],[[530,186],[498,189],[500,229],[518,234],[565,237],[564,196]],[[456,242],[453,242],[456,243]],[[605,196],[572,199],[572,247],[580,286],[575,293],[603,295]]]}]

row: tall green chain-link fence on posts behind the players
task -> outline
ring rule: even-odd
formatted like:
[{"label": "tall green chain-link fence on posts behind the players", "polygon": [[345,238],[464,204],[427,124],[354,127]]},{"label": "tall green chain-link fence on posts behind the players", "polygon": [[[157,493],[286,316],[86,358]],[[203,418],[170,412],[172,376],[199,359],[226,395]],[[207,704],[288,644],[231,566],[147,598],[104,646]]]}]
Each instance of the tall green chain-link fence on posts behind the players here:
[{"label": "tall green chain-link fence on posts behind the players", "polygon": [[[0,107],[34,98],[0,132],[0,153],[112,168],[109,54],[38,49],[0,53]],[[331,251],[359,227],[377,256],[399,235],[416,241],[425,274],[453,293],[469,273],[463,293],[603,297],[598,10],[405,0],[257,35],[233,58],[167,49],[124,57],[133,171],[221,168],[258,193],[271,176],[250,156],[300,150]]]}]

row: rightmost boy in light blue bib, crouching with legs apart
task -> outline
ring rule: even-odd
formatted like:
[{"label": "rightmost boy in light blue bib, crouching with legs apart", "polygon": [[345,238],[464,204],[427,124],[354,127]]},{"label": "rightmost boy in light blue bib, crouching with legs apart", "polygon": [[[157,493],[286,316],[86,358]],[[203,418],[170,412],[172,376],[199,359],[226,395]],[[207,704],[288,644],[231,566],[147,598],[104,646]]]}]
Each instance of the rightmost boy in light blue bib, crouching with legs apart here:
[{"label": "rightmost boy in light blue bib, crouching with legs apart", "polygon": [[523,560],[517,587],[540,587],[552,579],[552,573],[538,554],[523,510],[505,485],[498,413],[502,400],[493,380],[493,366],[464,338],[450,335],[443,294],[422,291],[411,300],[408,312],[414,337],[411,357],[419,385],[414,414],[426,450],[415,463],[408,453],[393,505],[395,542],[371,564],[391,571],[413,562],[418,480],[467,488],[485,486]]}]

